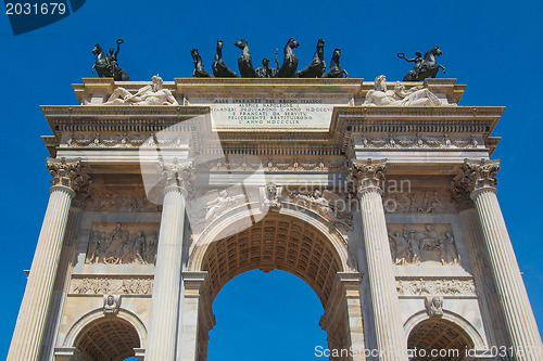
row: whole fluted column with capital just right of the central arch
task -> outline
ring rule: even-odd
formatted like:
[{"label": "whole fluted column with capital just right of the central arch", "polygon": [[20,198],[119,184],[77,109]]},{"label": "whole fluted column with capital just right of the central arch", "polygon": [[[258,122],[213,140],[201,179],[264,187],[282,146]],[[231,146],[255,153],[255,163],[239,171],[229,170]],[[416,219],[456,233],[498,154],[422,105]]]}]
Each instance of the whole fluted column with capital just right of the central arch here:
[{"label": "whole fluted column with capital just right of the central arch", "polygon": [[372,347],[378,360],[407,360],[407,345],[400,319],[400,301],[390,255],[381,189],[387,160],[354,163],[350,179],[361,201],[362,238],[366,248],[367,276],[371,304]]}]

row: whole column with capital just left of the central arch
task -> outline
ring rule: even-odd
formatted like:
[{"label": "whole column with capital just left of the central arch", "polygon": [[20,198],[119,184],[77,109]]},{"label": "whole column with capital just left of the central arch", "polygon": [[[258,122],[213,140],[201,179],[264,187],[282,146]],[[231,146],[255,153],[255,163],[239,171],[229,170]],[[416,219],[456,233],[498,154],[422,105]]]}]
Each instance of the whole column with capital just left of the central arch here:
[{"label": "whole column with capital just left of the central arch", "polygon": [[181,284],[185,201],[191,163],[161,164],[164,203],[154,271],[147,361],[174,361]]}]

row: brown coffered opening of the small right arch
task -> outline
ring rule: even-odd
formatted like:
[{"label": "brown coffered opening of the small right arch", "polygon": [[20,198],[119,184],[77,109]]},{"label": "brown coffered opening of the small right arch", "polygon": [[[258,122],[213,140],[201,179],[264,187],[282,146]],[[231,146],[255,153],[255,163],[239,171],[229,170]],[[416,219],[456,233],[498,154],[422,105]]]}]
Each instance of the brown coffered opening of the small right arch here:
[{"label": "brown coffered opening of the small right arch", "polygon": [[[407,348],[419,350],[418,357],[413,360],[464,360],[465,350],[473,347],[473,340],[463,327],[443,318],[430,318],[419,322],[407,338]],[[432,356],[432,350],[442,352]]]}]

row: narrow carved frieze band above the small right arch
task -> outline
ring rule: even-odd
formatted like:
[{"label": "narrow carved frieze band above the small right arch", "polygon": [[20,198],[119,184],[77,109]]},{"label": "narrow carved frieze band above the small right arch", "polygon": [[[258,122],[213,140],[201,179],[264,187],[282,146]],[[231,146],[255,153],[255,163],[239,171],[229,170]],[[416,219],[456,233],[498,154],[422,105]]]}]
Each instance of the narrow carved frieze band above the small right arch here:
[{"label": "narrow carved frieze band above the small right arch", "polygon": [[396,279],[400,296],[476,296],[472,279]]}]

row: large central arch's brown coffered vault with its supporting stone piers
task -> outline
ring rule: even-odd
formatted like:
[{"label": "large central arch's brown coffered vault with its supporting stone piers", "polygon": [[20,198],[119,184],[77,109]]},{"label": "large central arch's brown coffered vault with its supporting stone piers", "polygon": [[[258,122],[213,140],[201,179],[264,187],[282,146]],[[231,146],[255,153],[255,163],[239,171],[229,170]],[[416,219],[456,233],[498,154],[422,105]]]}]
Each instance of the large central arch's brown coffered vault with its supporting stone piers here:
[{"label": "large central arch's brown coffered vault with its supporting stone piers", "polygon": [[[363,348],[362,276],[346,262],[346,245],[338,250],[338,243],[318,227],[306,219],[274,212],[236,234],[202,242],[203,249],[197,245],[189,263],[191,271],[184,273],[184,308],[194,302],[194,291],[199,295],[195,335],[188,336],[198,340],[192,346],[197,360],[206,360],[207,334],[215,324],[211,307],[215,296],[236,275],[254,269],[292,273],[314,289],[325,309],[320,326],[328,333],[329,349]],[[330,360],[358,358],[349,354]]]}]

